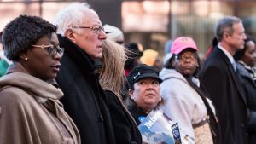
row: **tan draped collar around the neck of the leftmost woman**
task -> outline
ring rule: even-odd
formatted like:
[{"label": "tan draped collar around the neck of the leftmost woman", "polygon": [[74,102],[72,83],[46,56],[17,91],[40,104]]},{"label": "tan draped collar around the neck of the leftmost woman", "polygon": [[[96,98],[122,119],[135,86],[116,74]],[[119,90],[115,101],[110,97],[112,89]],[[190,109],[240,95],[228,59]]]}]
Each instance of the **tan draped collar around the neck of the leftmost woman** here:
[{"label": "tan draped collar around the neck of the leftmost woman", "polygon": [[17,87],[32,93],[36,98],[58,100],[63,96],[61,89],[55,87],[54,79],[45,82],[30,75],[19,62],[14,62],[5,76],[0,78],[0,89]]}]

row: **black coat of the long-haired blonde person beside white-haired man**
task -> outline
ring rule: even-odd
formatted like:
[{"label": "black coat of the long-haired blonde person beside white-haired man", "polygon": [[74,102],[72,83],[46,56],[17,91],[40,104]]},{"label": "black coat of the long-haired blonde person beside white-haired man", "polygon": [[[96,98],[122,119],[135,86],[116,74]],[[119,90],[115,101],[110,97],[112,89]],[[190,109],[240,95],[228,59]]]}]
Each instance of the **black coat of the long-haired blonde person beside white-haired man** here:
[{"label": "black coat of the long-haired blonde person beside white-haired man", "polygon": [[113,124],[115,141],[117,144],[141,144],[142,135],[131,114],[124,107],[117,95],[106,90],[108,105]]}]

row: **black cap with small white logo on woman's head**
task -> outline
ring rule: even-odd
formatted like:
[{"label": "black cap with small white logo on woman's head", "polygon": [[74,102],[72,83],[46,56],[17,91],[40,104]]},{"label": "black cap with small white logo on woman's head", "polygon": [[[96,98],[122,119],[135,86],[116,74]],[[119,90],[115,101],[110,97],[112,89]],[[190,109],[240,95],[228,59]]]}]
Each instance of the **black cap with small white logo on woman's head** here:
[{"label": "black cap with small white logo on woman's head", "polygon": [[155,78],[159,83],[163,82],[163,80],[159,78],[158,72],[156,72],[153,67],[145,64],[135,66],[129,73],[127,80],[130,87],[132,87],[133,84],[143,78]]}]

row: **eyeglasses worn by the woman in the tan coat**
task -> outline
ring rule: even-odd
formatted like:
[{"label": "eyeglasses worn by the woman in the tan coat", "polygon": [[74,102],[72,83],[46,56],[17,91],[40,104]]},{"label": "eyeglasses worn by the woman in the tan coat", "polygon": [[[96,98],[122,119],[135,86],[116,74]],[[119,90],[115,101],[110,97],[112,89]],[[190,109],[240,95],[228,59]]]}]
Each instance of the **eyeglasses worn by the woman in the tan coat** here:
[{"label": "eyeglasses worn by the woman in the tan coat", "polygon": [[61,56],[64,54],[64,49],[60,46],[55,47],[54,45],[32,45],[32,47],[35,48],[41,48],[41,49],[48,49],[48,53],[51,56],[55,56],[57,53],[59,53]]}]

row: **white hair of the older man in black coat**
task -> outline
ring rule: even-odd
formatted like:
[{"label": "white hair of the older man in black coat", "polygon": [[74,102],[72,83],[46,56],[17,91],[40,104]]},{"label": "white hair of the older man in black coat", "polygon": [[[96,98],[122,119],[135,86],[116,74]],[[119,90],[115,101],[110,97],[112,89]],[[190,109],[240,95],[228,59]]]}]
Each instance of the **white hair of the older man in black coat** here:
[{"label": "white hair of the older man in black coat", "polygon": [[73,3],[61,9],[55,15],[53,22],[57,26],[57,33],[64,36],[68,29],[72,29],[72,26],[81,25],[88,9],[91,9],[88,3]]}]

